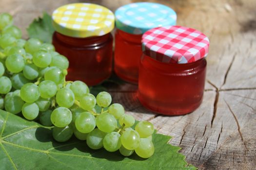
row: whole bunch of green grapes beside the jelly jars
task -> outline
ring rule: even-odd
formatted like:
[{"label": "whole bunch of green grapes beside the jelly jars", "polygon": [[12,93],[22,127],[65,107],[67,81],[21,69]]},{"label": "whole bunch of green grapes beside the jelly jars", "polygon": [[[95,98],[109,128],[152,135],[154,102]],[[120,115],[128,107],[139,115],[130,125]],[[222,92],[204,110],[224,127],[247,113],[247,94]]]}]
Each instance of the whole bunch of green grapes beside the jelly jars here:
[{"label": "whole bunch of green grapes beside the jelly jars", "polygon": [[52,44],[21,39],[12,16],[0,14],[0,109],[53,127],[59,142],[73,134],[91,149],[105,148],[124,156],[153,155],[154,126],[125,114],[111,95],[90,93],[81,81],[65,81],[69,62]]}]

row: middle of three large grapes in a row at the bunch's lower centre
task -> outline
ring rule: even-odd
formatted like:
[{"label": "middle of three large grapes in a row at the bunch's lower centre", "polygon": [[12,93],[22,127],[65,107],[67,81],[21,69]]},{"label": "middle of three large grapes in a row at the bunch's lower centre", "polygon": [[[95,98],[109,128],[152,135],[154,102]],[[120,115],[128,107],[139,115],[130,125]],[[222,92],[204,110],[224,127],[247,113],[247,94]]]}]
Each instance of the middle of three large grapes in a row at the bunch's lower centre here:
[{"label": "middle of three large grapes in a row at the bunch's lower centre", "polygon": [[89,133],[96,127],[96,119],[89,112],[82,112],[76,119],[76,128],[81,133]]}]

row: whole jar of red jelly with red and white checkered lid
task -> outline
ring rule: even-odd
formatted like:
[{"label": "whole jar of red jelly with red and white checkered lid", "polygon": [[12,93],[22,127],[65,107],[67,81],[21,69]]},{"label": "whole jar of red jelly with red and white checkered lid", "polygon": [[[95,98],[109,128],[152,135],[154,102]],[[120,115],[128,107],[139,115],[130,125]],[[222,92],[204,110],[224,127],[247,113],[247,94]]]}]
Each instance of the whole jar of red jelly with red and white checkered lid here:
[{"label": "whole jar of red jelly with red and white checkered lid", "polygon": [[184,115],[202,102],[209,39],[199,31],[165,26],[142,36],[138,99],[164,115]]}]

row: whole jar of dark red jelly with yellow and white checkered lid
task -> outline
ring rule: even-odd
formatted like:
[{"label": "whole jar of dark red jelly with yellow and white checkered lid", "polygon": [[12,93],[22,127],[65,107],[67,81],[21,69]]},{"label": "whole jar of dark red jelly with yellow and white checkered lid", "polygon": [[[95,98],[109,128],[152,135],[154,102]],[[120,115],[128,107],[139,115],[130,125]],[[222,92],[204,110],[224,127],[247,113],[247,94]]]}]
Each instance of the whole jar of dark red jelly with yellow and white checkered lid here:
[{"label": "whole jar of dark red jelly with yellow and white checkered lid", "polygon": [[97,85],[112,72],[115,16],[107,8],[91,3],[59,7],[52,15],[56,51],[69,60],[67,80]]}]

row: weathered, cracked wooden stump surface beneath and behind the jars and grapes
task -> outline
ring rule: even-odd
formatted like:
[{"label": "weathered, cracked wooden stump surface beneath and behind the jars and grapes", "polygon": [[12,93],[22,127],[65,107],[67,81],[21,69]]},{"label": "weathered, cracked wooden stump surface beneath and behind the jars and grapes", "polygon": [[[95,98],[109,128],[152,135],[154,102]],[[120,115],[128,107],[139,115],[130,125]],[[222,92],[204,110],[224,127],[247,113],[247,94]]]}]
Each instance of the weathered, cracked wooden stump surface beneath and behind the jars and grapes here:
[{"label": "weathered, cracked wooden stump surface beneath and behind the jars and grapes", "polygon": [[[172,7],[177,24],[210,39],[204,100],[185,116],[161,116],[144,109],[136,85],[109,88],[127,114],[154,123],[158,133],[173,136],[187,161],[201,170],[256,170],[256,0],[149,0]],[[137,0],[0,0],[0,12],[14,15],[26,28],[43,11],[67,3],[93,2],[112,11]]]}]

